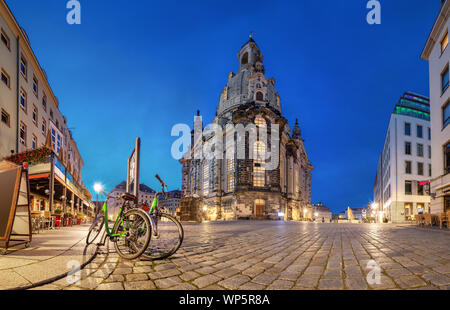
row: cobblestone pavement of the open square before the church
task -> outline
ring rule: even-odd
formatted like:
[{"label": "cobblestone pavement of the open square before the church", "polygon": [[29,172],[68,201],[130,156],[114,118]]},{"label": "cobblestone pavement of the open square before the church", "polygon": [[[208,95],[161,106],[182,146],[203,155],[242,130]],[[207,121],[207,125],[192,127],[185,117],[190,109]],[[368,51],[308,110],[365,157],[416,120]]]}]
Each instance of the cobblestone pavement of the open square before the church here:
[{"label": "cobblestone pavement of the open square before the church", "polygon": [[[450,232],[377,224],[184,224],[171,259],[120,259],[113,246],[81,272],[38,289],[448,289]],[[109,253],[108,253],[109,252]],[[370,260],[381,267],[370,285]]]}]

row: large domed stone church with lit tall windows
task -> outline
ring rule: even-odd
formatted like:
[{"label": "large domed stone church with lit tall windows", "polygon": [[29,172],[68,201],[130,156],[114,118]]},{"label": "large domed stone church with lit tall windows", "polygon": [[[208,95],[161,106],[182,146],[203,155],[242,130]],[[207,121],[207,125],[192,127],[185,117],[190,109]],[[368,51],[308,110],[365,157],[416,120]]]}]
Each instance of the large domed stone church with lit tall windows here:
[{"label": "large domed stone church with lit tall windows", "polygon": [[[275,80],[265,76],[263,55],[252,37],[242,46],[238,59],[239,71],[228,75],[212,124],[224,128],[224,140],[229,134],[225,130],[227,124],[244,127],[255,124],[258,129],[268,130],[268,138],[260,141],[258,136],[253,143],[256,157],[248,156],[252,145],[247,133],[245,144],[235,143],[233,149],[228,150],[236,154],[237,148],[245,148],[245,159],[236,156],[229,159],[224,155],[223,159],[207,160],[195,158],[194,151],[209,139],[208,135],[197,139],[192,133],[191,156],[185,155],[180,160],[183,199],[196,199],[199,202],[196,209],[207,220],[311,218],[313,166],[298,122],[291,132],[281,113]],[[271,145],[273,124],[279,126],[276,133],[279,161],[276,169],[266,170],[262,163],[267,159],[261,155],[274,150]],[[199,116],[194,126],[203,129]],[[226,147],[223,149],[225,153]]]}]

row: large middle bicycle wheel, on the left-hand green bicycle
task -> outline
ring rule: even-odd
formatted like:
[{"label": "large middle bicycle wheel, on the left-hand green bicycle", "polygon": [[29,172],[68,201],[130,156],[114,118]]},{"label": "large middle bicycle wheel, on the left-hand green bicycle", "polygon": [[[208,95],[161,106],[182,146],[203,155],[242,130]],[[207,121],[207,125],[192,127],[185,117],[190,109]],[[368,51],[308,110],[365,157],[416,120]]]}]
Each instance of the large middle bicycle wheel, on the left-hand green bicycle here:
[{"label": "large middle bicycle wheel, on the left-hand green bicycle", "polygon": [[[114,248],[125,259],[135,259],[144,253],[151,238],[151,225],[144,211],[132,209],[122,215],[123,221],[114,228]],[[125,234],[126,233],[126,234]]]}]

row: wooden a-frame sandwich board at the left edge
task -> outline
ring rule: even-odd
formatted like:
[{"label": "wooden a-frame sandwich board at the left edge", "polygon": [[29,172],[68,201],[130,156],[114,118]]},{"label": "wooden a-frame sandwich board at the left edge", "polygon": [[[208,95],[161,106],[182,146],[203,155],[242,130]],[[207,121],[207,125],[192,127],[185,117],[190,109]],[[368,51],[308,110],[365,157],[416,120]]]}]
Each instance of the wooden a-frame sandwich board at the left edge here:
[{"label": "wooden a-frame sandwich board at the left edge", "polygon": [[32,239],[28,169],[0,162],[0,254]]}]

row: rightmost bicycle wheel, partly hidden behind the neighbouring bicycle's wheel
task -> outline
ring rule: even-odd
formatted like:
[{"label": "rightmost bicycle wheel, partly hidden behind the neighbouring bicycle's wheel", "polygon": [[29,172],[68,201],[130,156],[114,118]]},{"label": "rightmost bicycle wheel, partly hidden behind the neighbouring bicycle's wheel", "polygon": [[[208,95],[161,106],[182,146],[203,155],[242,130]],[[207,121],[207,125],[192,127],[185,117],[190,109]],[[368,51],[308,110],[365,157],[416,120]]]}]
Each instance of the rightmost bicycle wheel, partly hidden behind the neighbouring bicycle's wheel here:
[{"label": "rightmost bicycle wheel, partly hidden behind the neighbouring bicycle's wheel", "polygon": [[184,230],[180,222],[170,214],[151,215],[154,221],[152,238],[142,257],[147,259],[164,259],[180,248],[184,239]]}]

